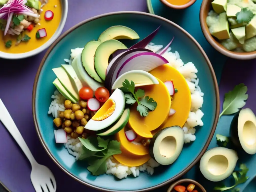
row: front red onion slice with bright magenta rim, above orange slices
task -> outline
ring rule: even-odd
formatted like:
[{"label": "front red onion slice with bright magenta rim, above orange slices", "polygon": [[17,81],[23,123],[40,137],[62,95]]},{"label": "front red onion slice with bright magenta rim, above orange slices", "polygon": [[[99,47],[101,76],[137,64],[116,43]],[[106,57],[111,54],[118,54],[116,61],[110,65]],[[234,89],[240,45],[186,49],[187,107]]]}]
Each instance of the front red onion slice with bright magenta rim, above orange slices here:
[{"label": "front red onion slice with bright magenta rim, above orange slices", "polygon": [[[120,61],[120,63],[121,62],[122,61]],[[169,61],[157,53],[138,53],[128,58],[126,61],[122,63],[121,67],[118,69],[118,72],[116,74],[116,79],[120,75],[131,70],[139,69],[148,72],[166,63],[169,63]]]}]

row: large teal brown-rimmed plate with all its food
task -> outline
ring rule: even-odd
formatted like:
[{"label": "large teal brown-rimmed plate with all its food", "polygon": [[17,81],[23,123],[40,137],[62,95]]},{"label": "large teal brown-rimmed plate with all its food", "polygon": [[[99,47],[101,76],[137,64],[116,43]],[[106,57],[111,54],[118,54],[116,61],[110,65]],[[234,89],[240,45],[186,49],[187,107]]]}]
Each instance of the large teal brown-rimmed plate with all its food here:
[{"label": "large teal brown-rimmed plate with all its food", "polygon": [[186,173],[209,145],[218,103],[215,74],[193,37],[141,12],[71,28],[44,57],[33,89],[50,157],[109,191],[148,190]]}]

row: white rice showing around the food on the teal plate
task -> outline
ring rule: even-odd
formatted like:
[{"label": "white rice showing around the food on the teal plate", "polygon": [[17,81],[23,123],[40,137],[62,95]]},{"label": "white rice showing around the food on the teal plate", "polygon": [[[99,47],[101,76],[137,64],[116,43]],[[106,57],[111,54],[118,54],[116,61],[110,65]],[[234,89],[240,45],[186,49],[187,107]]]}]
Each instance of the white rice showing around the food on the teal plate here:
[{"label": "white rice showing around the food on the teal plate", "polygon": [[[163,48],[163,45],[155,45],[151,42],[145,48],[150,49],[153,52],[158,52]],[[83,48],[71,49],[70,59],[64,59],[64,61],[71,65],[74,57],[80,54],[82,50]],[[196,75],[198,71],[195,65],[192,62],[184,64],[182,59],[180,59],[179,53],[177,51],[171,52],[170,50],[171,48],[169,47],[167,51],[163,54],[163,57],[165,57],[169,61],[170,66],[177,69],[185,77],[189,90],[191,92],[191,109],[188,119],[182,128],[185,132],[184,143],[190,143],[191,141],[195,141],[196,139],[195,127],[204,125],[201,120],[204,113],[200,110],[204,102],[204,93],[201,92],[201,89],[198,85],[199,79]],[[54,95],[52,95],[51,98],[54,100],[50,104],[48,114],[52,114],[52,116],[56,118],[59,117],[59,111],[65,111],[65,98],[57,90],[54,92]],[[68,152],[73,155],[76,160],[78,160],[79,156],[81,155],[83,146],[80,140],[78,138],[73,139],[68,136],[68,142],[64,145],[67,148]],[[140,172],[145,171],[148,174],[152,175],[154,173],[154,168],[159,166],[159,164],[151,158],[147,163],[139,167],[128,167],[126,165],[115,163],[112,156],[107,159],[106,165],[106,174],[115,175],[119,179],[126,178],[128,175],[133,175],[134,177],[137,177],[140,175]]]}]

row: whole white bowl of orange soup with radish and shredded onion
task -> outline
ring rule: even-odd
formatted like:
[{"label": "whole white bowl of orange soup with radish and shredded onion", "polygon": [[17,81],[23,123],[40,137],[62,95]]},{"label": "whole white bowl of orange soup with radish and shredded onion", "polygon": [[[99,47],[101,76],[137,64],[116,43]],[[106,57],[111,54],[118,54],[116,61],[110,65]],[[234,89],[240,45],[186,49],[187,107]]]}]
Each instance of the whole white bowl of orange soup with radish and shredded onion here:
[{"label": "whole white bowl of orange soup with radish and shredded onion", "polygon": [[0,57],[20,59],[39,53],[60,35],[67,0],[1,0]]}]

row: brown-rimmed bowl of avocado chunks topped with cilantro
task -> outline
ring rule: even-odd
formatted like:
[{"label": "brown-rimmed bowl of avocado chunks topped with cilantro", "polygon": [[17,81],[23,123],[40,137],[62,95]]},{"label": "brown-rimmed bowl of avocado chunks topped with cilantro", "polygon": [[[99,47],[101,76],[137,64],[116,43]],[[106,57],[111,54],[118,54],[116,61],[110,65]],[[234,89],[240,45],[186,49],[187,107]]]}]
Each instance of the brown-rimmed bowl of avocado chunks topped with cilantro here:
[{"label": "brown-rimmed bowl of avocado chunks topped with cilantro", "polygon": [[206,40],[230,58],[256,58],[254,0],[203,0],[200,24]]}]

